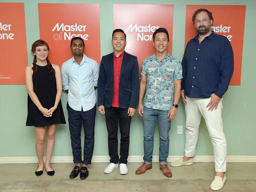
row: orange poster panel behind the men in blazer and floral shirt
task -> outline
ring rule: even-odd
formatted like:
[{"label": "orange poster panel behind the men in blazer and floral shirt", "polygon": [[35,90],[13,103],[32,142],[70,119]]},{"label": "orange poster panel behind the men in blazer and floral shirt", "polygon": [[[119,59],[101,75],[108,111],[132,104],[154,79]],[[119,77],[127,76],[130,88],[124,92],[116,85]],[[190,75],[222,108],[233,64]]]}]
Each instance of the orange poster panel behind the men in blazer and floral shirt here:
[{"label": "orange poster panel behind the men in blazer and floral shirt", "polygon": [[123,29],[127,35],[125,51],[138,57],[139,69],[144,58],[155,53],[153,33],[160,27],[168,30],[172,54],[173,5],[113,5],[114,29]]}]

